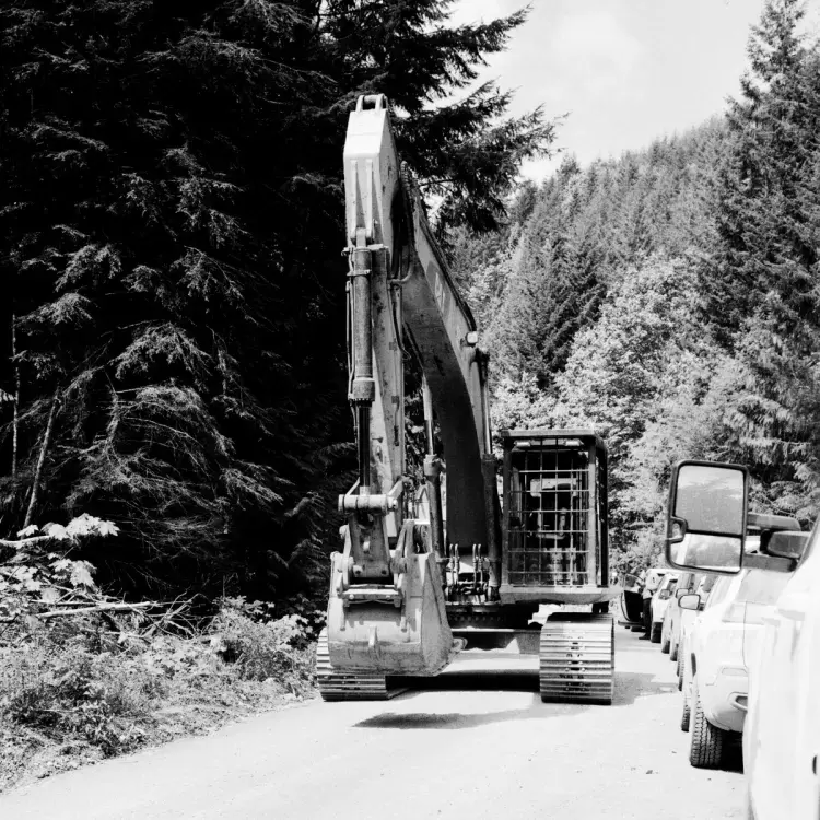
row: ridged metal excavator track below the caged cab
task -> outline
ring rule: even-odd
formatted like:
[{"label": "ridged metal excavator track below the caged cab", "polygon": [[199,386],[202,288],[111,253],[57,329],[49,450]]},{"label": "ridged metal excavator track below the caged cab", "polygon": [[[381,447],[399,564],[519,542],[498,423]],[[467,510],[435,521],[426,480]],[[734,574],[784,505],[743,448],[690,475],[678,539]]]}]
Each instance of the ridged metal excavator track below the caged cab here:
[{"label": "ridged metal excavator track below the caged cab", "polygon": [[561,612],[541,629],[539,688],[548,703],[612,703],[611,616]]}]

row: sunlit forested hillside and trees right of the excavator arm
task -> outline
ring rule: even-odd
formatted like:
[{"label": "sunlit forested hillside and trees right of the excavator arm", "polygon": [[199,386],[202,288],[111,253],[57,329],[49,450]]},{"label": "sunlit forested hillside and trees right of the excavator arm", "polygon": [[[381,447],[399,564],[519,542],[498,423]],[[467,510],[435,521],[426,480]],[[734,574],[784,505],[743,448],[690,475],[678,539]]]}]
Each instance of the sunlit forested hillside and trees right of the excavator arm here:
[{"label": "sunlit forested hillside and trees right of the excavator arm", "polygon": [[820,492],[820,50],[766,3],[724,116],[525,185],[492,234],[453,232],[494,351],[496,429],[608,442],[620,563],[660,551],[680,458],[748,464],[753,505]]}]

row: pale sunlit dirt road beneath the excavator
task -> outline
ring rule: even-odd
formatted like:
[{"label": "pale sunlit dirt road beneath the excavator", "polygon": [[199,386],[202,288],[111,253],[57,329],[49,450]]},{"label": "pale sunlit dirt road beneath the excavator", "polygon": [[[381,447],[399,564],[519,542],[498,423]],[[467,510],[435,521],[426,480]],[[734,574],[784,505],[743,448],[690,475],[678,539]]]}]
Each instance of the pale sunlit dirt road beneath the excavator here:
[{"label": "pale sunlit dirt road beneath the excavator", "polygon": [[0,797],[2,820],[722,820],[738,765],[689,765],[675,665],[616,626],[612,706],[542,704],[534,657],[469,654],[383,703],[312,701]]}]

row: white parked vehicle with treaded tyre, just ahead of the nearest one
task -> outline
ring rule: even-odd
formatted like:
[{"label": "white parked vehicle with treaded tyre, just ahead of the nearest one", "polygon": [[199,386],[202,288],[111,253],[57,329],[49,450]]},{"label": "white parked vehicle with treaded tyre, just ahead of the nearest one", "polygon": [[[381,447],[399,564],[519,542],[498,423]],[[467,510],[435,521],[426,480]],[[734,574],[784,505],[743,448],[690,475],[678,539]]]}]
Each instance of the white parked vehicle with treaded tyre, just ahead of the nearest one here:
[{"label": "white parked vehicle with treaded tyre, just ahead of the nearest one", "polygon": [[[763,612],[777,600],[787,581],[782,573],[761,569],[721,576],[692,625],[681,721],[681,726],[689,723],[687,712],[691,711],[692,765],[718,766],[729,733],[743,730],[749,695],[747,658],[755,655],[762,637]],[[700,596],[684,595],[679,605],[696,611]]]}]

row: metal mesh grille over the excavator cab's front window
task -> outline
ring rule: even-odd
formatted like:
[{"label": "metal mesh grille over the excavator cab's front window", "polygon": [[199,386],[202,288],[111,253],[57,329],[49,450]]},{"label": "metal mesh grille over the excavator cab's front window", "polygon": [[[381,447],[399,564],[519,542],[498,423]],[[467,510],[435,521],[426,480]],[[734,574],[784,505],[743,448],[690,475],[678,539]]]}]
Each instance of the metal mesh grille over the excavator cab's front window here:
[{"label": "metal mesh grille over the excavator cab's front window", "polygon": [[509,583],[583,586],[589,549],[589,458],[586,450],[514,450],[509,482]]}]

